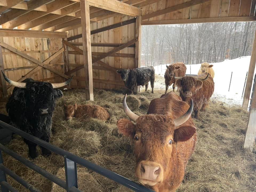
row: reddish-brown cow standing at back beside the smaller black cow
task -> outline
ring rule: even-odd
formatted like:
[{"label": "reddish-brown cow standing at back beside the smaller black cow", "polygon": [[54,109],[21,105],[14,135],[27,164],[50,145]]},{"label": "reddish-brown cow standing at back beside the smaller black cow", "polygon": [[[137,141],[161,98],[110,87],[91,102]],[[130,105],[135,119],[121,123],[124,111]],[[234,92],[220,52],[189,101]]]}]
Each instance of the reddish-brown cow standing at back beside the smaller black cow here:
[{"label": "reddish-brown cow standing at back beside the smaller black cow", "polygon": [[165,71],[165,94],[171,84],[173,84],[173,91],[176,87],[176,80],[173,78],[174,74],[176,77],[183,77],[186,74],[187,67],[183,62],[173,63],[171,65],[166,65],[167,69]]}]

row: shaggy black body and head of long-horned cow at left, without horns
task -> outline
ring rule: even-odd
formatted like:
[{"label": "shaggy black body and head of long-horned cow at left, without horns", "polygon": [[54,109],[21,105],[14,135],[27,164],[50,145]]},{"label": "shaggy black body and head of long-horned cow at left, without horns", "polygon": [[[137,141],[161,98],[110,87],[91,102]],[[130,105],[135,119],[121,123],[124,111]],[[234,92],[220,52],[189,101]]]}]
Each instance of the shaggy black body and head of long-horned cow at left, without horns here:
[{"label": "shaggy black body and head of long-horned cow at left, without horns", "polygon": [[[6,104],[13,125],[35,137],[49,142],[51,136],[52,116],[56,99],[63,96],[59,89],[53,89],[51,83],[25,79],[26,88],[15,87],[13,94]],[[47,109],[47,114],[42,114],[40,109]],[[37,157],[36,144],[24,139],[29,147],[31,158]],[[43,147],[43,155],[51,152]]]}]

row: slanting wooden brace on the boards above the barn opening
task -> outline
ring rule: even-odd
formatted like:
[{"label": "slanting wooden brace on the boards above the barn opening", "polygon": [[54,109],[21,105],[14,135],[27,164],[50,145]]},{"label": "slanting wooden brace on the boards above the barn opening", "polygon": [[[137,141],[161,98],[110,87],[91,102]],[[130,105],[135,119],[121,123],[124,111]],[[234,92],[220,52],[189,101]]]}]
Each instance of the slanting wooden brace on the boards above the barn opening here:
[{"label": "slanting wooden brace on the boards above the barn opening", "polygon": [[153,13],[143,15],[142,20],[149,19],[151,17],[156,17],[158,15],[163,15],[163,14],[166,14],[166,13],[170,13],[172,11],[177,11],[179,9],[183,9],[183,8],[190,7],[190,6],[193,6],[193,5],[201,4],[201,3],[204,3],[204,2],[207,2],[207,1],[209,1],[209,0],[193,0],[193,1],[182,3],[182,4],[179,4],[179,5],[176,5],[176,6],[168,7],[166,9],[163,9],[163,10],[160,10],[160,11],[155,11]]}]

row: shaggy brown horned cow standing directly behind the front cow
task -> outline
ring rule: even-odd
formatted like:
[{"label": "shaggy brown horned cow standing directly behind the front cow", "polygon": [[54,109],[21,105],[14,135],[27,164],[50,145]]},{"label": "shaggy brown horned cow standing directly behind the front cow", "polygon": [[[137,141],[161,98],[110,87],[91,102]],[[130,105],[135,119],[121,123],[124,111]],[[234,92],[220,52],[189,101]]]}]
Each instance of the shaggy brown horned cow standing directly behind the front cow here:
[{"label": "shaggy brown horned cow standing directly behind the front cow", "polygon": [[190,103],[194,101],[195,118],[198,117],[198,110],[205,110],[209,99],[214,91],[213,78],[209,73],[198,76],[174,77],[177,79],[176,85],[180,89],[180,96],[183,101]]}]

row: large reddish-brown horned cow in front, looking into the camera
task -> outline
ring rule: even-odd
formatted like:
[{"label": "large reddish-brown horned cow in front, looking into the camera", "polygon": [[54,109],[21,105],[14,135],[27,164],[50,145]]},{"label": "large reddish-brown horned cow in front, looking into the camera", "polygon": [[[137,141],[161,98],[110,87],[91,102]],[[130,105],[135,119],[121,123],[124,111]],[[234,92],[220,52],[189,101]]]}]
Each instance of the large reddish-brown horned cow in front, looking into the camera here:
[{"label": "large reddish-brown horned cow in front, looking into the camera", "polygon": [[189,105],[173,92],[150,102],[147,115],[134,114],[123,100],[128,119],[117,121],[119,133],[134,143],[135,175],[158,192],[174,192],[182,182],[197,134]]}]

